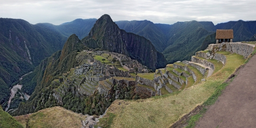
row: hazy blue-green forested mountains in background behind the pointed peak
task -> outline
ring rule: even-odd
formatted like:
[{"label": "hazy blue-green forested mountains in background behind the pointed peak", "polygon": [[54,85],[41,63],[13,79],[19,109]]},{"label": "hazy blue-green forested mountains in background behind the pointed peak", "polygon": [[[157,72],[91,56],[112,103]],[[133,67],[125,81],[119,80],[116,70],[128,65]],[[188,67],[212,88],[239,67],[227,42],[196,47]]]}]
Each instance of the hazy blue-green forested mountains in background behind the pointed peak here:
[{"label": "hazy blue-green forested mountains in background behind the pointed peak", "polygon": [[[62,49],[64,42],[73,33],[80,40],[86,37],[96,21],[97,19],[76,19],[53,25],[29,24],[22,19],[0,18],[0,104],[8,99],[9,87],[17,84],[19,77],[32,71],[43,59]],[[154,24],[147,20],[115,23],[126,32],[150,40],[155,49],[163,53],[169,64],[179,60],[190,60],[190,56],[196,51],[206,48],[210,43],[215,43],[216,29],[233,29],[234,42],[256,40],[254,37],[256,21],[239,20],[217,25],[212,22],[197,21],[177,22],[172,25]],[[106,49],[106,47],[101,48]],[[131,53],[128,55],[131,56]],[[144,61],[146,63],[146,60]],[[160,63],[162,62],[156,62],[156,64]],[[34,90],[37,84],[35,83],[31,90]]]}]

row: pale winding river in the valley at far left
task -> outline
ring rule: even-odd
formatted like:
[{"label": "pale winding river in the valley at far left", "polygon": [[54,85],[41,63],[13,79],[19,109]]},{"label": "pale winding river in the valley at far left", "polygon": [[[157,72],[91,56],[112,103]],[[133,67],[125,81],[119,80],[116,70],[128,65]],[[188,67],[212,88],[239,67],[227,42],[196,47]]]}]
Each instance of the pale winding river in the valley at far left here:
[{"label": "pale winding river in the valley at far left", "polygon": [[[24,78],[26,75],[28,75],[28,74],[30,74],[30,73],[32,73],[32,72],[29,72],[29,73],[27,73],[27,74],[21,76],[21,78],[19,78],[19,81],[22,80],[22,78]],[[18,89],[21,90],[21,88],[22,88],[22,85],[19,85],[19,84],[17,84],[17,85],[15,85],[15,86],[13,86],[12,88],[10,88],[10,97],[9,97],[9,101],[8,101],[8,107],[5,109],[6,112],[8,111],[8,109],[9,109],[9,107],[10,107],[11,99],[12,99],[12,98],[15,96],[15,94],[18,92]],[[25,93],[25,92],[21,92],[21,94],[22,94],[22,95],[21,95],[20,98],[25,98],[26,100],[28,100],[29,97],[30,97],[30,96],[29,96],[27,93]]]}]

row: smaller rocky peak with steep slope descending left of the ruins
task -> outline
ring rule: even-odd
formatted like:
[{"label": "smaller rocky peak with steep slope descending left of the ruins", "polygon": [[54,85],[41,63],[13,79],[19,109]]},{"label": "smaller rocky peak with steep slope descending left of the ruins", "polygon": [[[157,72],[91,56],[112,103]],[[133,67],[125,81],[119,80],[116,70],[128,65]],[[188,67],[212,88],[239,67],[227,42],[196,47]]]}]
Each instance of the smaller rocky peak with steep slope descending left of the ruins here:
[{"label": "smaller rocky peak with steep slope descending left of the ruins", "polygon": [[20,104],[18,110],[13,115],[22,115],[24,113],[37,112],[43,108],[55,106],[55,98],[52,96],[53,88],[51,82],[58,79],[62,73],[69,71],[72,67],[77,66],[75,57],[77,51],[85,49],[85,46],[73,34],[64,44],[61,51],[55,52],[52,56],[41,61],[41,64],[34,70],[34,81],[37,82],[35,91],[32,93],[26,104]]}]

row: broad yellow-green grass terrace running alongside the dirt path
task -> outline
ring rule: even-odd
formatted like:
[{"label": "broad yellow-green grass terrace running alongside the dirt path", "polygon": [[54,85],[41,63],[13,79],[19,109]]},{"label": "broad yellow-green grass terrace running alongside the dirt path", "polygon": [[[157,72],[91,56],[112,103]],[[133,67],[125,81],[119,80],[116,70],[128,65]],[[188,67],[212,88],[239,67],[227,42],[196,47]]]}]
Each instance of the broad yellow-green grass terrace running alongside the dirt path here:
[{"label": "broad yellow-green grass terrace running alongside the dirt path", "polygon": [[170,127],[197,105],[203,104],[246,61],[238,54],[226,56],[227,63],[219,71],[191,88],[147,99],[115,100],[108,109],[108,112],[115,115],[111,128]]}]

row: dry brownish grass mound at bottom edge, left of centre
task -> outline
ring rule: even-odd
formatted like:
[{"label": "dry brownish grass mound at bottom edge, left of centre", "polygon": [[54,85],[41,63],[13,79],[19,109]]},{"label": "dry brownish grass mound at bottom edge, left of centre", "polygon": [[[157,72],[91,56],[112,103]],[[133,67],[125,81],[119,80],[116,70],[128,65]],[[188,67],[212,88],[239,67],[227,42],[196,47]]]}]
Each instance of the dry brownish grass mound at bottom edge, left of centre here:
[{"label": "dry brownish grass mound at bottom edge, left of centre", "polygon": [[25,128],[81,128],[81,120],[85,120],[86,116],[62,107],[52,107],[14,118]]}]

